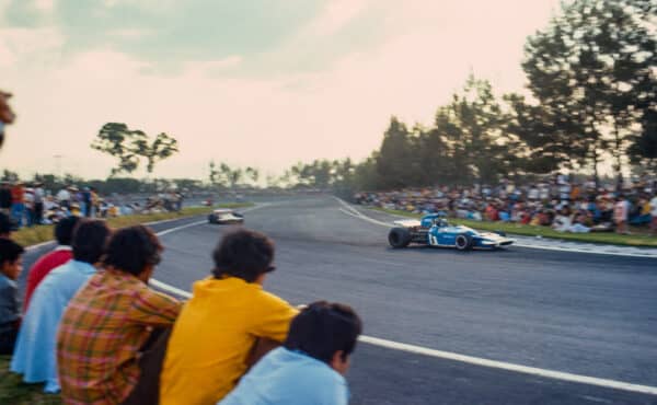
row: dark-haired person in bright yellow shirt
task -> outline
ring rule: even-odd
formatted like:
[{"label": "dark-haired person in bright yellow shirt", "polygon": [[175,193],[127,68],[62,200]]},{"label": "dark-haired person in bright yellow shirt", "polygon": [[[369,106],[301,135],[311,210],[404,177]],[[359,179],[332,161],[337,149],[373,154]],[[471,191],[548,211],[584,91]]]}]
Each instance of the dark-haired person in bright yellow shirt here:
[{"label": "dark-haired person in bright yellow shirt", "polygon": [[274,270],[274,243],[240,229],[214,253],[212,276],[194,294],[173,327],[161,377],[162,405],[214,405],[246,371],[256,339],[281,343],[297,310],[263,290]]}]

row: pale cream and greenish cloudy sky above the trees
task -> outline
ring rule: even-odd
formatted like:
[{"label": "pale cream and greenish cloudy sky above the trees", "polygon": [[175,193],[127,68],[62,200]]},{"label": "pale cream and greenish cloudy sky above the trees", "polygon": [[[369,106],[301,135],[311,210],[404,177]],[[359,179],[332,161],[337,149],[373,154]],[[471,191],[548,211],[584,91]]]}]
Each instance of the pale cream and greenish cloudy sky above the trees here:
[{"label": "pale cream and greenish cloudy sky above the trees", "polygon": [[161,177],[358,161],[392,115],[430,125],[471,72],[522,91],[526,38],[558,3],[0,0],[0,89],[18,114],[0,169],[105,177],[115,161],[90,143],[108,121],[178,140]]}]

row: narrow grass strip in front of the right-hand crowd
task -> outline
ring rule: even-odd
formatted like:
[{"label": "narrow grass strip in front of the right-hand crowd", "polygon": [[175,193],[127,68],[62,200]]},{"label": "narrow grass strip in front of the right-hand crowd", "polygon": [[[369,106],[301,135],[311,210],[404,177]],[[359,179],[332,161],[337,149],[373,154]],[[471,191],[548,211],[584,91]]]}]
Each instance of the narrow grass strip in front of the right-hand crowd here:
[{"label": "narrow grass strip in front of the right-hand crowd", "polygon": [[[420,218],[422,215],[413,213],[407,211],[385,209],[385,208],[371,208],[377,211],[387,213],[393,213],[397,216],[408,218]],[[657,247],[657,238],[648,234],[633,233],[630,235],[621,235],[618,233],[603,232],[603,233],[566,233],[557,232],[549,227],[533,227],[525,225],[519,223],[508,222],[485,222],[485,221],[472,221],[466,219],[451,219],[450,222],[463,224],[465,227],[479,229],[482,231],[504,231],[509,234],[525,235],[525,236],[541,236],[550,239],[561,239],[567,241],[577,242],[590,242],[590,243],[606,243],[621,246],[639,246],[639,247]]]}]

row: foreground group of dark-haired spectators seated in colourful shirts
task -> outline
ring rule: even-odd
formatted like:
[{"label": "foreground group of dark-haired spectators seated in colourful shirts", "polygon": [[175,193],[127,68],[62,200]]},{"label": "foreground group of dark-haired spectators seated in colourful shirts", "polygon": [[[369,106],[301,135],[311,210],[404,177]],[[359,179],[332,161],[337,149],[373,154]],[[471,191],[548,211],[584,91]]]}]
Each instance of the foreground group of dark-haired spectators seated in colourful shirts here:
[{"label": "foreground group of dark-haired spectators seated in colourful shirts", "polygon": [[67,217],[57,247],[16,279],[24,248],[0,212],[0,354],[65,404],[346,405],[362,325],[348,305],[292,306],[264,289],[274,242],[243,228],[219,241],[186,301],[148,281],[163,247],[147,227]]}]

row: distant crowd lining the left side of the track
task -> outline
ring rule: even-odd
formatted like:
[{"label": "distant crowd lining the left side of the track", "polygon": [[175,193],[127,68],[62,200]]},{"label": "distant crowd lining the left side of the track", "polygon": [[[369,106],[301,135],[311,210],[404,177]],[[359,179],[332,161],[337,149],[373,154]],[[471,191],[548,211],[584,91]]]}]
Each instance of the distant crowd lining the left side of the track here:
[{"label": "distant crowd lining the left side of the track", "polygon": [[117,195],[101,197],[94,187],[74,185],[48,190],[43,183],[0,183],[0,211],[8,213],[16,228],[57,223],[68,217],[113,218],[118,216],[180,211],[184,195],[176,190],[148,197],[139,202]]}]

